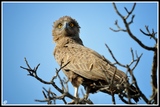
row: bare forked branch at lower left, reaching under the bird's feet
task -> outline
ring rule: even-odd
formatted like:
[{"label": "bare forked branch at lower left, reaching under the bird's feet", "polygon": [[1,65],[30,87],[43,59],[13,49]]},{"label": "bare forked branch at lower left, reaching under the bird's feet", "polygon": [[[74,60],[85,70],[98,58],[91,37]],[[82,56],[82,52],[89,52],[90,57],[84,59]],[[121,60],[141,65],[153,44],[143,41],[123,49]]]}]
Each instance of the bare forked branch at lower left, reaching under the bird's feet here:
[{"label": "bare forked branch at lower left, reaching under the bird's feet", "polygon": [[[63,80],[61,79],[61,77],[59,76],[59,71],[61,71],[61,69],[63,67],[65,67],[68,63],[64,64],[63,66],[60,67],[60,69],[56,69],[56,75],[52,77],[51,81],[48,82],[48,81],[45,81],[43,79],[41,79],[38,75],[37,75],[37,70],[38,70],[38,67],[40,66],[40,64],[38,64],[34,69],[32,69],[27,61],[27,59],[25,58],[25,62],[26,62],[26,65],[28,68],[25,68],[25,67],[22,67],[20,66],[20,68],[22,69],[25,69],[29,72],[29,76],[32,76],[34,78],[36,78],[38,81],[44,83],[44,84],[49,84],[49,85],[52,85],[57,91],[59,91],[62,95],[60,96],[57,96],[54,92],[51,91],[51,89],[49,89],[48,91],[43,88],[44,91],[42,91],[43,95],[44,95],[44,100],[35,100],[35,101],[38,101],[38,102],[47,102],[47,104],[52,104],[52,100],[53,102],[55,103],[55,100],[59,99],[59,100],[63,100],[63,102],[65,104],[68,104],[65,100],[65,97],[68,97],[72,100],[75,100],[75,102],[77,101],[77,104],[93,104],[93,102],[90,100],[90,99],[77,99],[75,98],[74,96],[72,96],[69,92],[68,92],[68,86],[67,86],[67,82],[63,82]],[[61,83],[61,86],[62,86],[62,89],[59,88],[55,82],[54,82],[54,79],[56,79],[58,77],[58,79],[60,80],[60,83]],[[66,84],[66,87],[64,86],[64,84]],[[45,94],[46,93],[46,94]]]}]

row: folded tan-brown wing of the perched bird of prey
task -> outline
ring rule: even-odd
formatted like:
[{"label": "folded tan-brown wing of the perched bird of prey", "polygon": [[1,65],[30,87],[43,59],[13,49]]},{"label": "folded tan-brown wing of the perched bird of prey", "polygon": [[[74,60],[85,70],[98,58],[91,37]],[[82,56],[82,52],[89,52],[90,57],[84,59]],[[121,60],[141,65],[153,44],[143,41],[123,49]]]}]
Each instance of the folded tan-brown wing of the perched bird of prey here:
[{"label": "folded tan-brown wing of the perched bird of prey", "polygon": [[56,48],[55,58],[59,64],[70,62],[64,69],[71,70],[82,77],[91,80],[111,79],[116,72],[118,80],[125,76],[122,71],[116,70],[108,60],[97,52],[78,44],[66,44],[63,48]]}]

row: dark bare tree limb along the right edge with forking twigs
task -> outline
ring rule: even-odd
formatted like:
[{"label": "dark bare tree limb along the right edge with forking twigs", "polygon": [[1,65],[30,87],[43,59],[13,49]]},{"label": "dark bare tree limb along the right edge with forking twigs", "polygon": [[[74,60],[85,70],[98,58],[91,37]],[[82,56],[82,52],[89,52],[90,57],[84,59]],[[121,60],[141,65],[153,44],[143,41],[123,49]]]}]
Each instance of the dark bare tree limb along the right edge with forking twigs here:
[{"label": "dark bare tree limb along the right edge with forking twigs", "polygon": [[[131,11],[128,11],[128,9],[126,7],[124,7],[124,9],[126,10],[127,12],[127,15],[126,16],[123,16],[117,9],[115,3],[113,3],[113,7],[116,11],[116,13],[121,17],[121,19],[123,20],[124,22],[124,25],[125,25],[125,28],[126,30],[124,30],[123,28],[121,28],[119,25],[118,25],[118,21],[116,20],[115,21],[115,25],[117,26],[118,30],[114,30],[112,28],[110,28],[112,31],[114,32],[118,32],[118,31],[125,31],[129,34],[129,36],[134,40],[136,41],[142,48],[148,50],[148,51],[154,51],[154,57],[153,57],[153,65],[152,65],[152,75],[151,75],[151,79],[152,79],[152,96],[151,96],[151,99],[150,101],[146,98],[146,96],[141,92],[141,90],[139,89],[138,85],[137,85],[137,82],[136,82],[136,78],[134,77],[133,75],[133,70],[136,68],[136,66],[138,65],[139,63],[139,60],[141,58],[141,56],[143,54],[141,54],[140,56],[137,55],[136,53],[136,57],[137,59],[134,59],[134,54],[133,54],[133,50],[131,49],[131,54],[132,54],[132,61],[130,64],[128,65],[123,65],[121,63],[119,63],[114,55],[112,54],[112,52],[110,51],[110,49],[108,48],[108,46],[106,45],[106,47],[108,48],[109,52],[111,53],[113,59],[116,61],[116,64],[122,66],[122,67],[126,67],[130,73],[130,75],[132,76],[132,83],[135,84],[137,90],[139,91],[139,94],[140,96],[143,98],[143,100],[147,103],[147,104],[150,104],[150,103],[155,103],[157,104],[157,49],[158,49],[158,45],[157,45],[157,38],[156,38],[156,34],[157,32],[154,32],[154,29],[152,29],[152,33],[150,33],[149,29],[148,29],[148,26],[145,26],[146,28],[146,31],[147,33],[145,33],[143,30],[140,29],[140,31],[146,35],[146,36],[149,36],[150,38],[153,38],[156,42],[155,46],[154,47],[150,47],[150,46],[146,46],[144,45],[136,36],[133,35],[133,33],[131,32],[130,30],[130,27],[129,25],[133,23],[133,19],[135,17],[135,15],[132,15],[131,17],[131,21],[130,22],[127,22],[127,18],[132,14],[133,10],[135,9],[135,6],[136,6],[136,3],[134,3]],[[133,68],[131,68],[130,66],[136,62],[136,64],[133,66]],[[138,95],[139,96],[139,95]],[[121,96],[120,96],[121,97]]]}]

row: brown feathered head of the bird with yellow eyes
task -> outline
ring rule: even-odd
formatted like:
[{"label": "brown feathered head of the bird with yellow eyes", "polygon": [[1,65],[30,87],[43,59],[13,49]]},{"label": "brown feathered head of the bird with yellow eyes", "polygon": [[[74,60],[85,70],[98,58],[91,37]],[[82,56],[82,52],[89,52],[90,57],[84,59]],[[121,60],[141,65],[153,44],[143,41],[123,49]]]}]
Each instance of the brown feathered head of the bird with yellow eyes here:
[{"label": "brown feathered head of the bird with yellow eyes", "polygon": [[80,26],[75,19],[69,16],[63,16],[54,22],[52,36],[54,41],[61,37],[76,38],[79,37]]}]

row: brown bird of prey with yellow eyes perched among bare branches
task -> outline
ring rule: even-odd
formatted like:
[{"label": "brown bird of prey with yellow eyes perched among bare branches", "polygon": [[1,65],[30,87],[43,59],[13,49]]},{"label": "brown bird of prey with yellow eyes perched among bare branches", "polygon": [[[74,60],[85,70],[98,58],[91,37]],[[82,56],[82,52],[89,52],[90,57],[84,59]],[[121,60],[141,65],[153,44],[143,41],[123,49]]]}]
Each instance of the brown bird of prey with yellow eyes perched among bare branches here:
[{"label": "brown bird of prey with yellow eyes perched among bare branches", "polygon": [[139,101],[133,85],[125,88],[127,75],[117,69],[108,59],[98,52],[84,46],[80,38],[79,23],[71,16],[62,16],[53,23],[52,36],[55,42],[53,55],[62,67],[63,73],[74,87],[74,97],[79,98],[80,85],[86,90],[85,98],[90,93],[104,92],[109,95],[119,94],[128,89],[131,98]]}]

